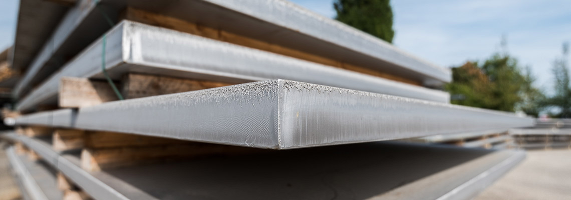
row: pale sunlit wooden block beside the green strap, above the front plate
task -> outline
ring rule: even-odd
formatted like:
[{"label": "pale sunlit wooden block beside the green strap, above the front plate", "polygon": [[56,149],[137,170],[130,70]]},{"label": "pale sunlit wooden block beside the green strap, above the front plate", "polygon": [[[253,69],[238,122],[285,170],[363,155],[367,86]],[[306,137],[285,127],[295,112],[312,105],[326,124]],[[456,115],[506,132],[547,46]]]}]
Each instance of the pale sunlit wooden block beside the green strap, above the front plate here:
[{"label": "pale sunlit wooden block beside the green strap, above the front plate", "polygon": [[81,108],[119,100],[107,81],[62,77],[59,83],[59,107]]}]

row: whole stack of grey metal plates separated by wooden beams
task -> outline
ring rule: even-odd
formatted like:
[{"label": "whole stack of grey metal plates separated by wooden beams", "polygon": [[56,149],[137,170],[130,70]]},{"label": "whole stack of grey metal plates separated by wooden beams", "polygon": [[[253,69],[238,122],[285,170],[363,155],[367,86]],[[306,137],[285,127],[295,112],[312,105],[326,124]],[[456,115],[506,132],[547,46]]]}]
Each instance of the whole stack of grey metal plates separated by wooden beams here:
[{"label": "whole stack of grey metal plates separated by wooden beams", "polygon": [[0,136],[35,199],[469,199],[525,157],[379,142],[533,120],[451,105],[447,68],[287,1],[22,0],[19,13],[21,115]]}]

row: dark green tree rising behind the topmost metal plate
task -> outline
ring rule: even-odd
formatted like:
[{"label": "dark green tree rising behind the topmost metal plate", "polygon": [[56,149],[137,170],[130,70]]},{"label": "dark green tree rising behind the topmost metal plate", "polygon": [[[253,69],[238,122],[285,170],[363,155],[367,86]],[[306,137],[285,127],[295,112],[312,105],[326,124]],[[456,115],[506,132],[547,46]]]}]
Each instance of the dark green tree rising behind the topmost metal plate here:
[{"label": "dark green tree rising behind the topmost metal plate", "polygon": [[336,19],[392,43],[393,13],[389,0],[336,0]]}]

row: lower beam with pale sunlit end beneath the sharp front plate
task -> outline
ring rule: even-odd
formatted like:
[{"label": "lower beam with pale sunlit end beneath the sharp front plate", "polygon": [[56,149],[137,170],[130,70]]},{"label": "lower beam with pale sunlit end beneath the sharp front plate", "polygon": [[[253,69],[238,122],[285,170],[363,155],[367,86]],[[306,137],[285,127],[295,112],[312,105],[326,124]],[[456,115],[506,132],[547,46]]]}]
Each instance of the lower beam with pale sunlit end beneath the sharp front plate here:
[{"label": "lower beam with pale sunlit end beneath the sharp front plate", "polygon": [[126,148],[83,149],[81,166],[87,171],[116,168],[157,161],[180,160],[189,157],[213,155],[235,155],[272,151],[268,149],[246,148],[230,145],[215,145],[200,142],[191,144],[142,146]]}]

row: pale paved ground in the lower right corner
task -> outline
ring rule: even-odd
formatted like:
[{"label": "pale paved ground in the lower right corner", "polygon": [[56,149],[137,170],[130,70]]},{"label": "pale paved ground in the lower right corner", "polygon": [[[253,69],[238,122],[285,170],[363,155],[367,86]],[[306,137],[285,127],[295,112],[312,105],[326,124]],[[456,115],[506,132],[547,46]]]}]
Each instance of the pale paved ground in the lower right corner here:
[{"label": "pale paved ground in the lower right corner", "polygon": [[529,150],[526,160],[475,199],[571,199],[571,150]]}]

